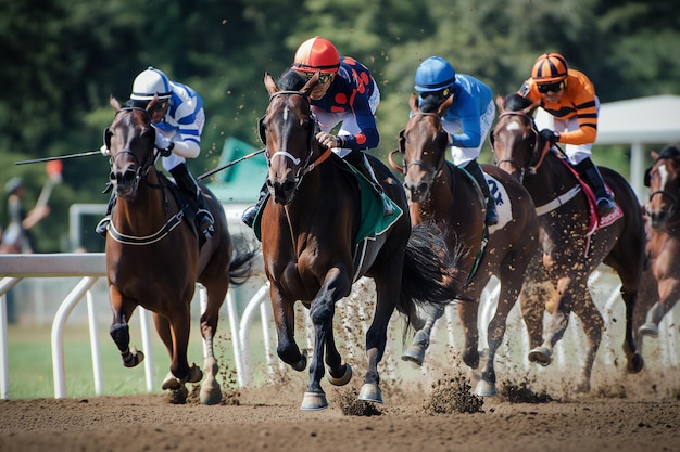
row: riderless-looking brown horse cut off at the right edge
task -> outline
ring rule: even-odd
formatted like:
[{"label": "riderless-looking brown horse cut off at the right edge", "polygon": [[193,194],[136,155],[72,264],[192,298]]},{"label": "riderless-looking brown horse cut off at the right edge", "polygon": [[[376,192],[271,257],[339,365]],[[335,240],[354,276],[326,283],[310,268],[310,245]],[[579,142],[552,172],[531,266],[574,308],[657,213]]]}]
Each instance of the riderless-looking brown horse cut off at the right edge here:
[{"label": "riderless-looking brown horse cut off at the right edge", "polygon": [[657,285],[641,335],[657,337],[658,324],[680,299],[680,150],[666,146],[652,153],[654,165],[646,171],[650,188],[647,256]]}]

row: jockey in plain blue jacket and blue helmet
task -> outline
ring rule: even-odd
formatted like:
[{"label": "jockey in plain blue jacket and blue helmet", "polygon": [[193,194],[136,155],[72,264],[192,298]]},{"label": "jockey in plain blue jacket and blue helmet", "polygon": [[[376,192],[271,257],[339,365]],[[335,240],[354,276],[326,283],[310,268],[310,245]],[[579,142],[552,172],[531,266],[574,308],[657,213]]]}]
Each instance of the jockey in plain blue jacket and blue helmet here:
[{"label": "jockey in plain blue jacket and blue helmet", "polygon": [[453,163],[473,175],[487,201],[486,223],[496,224],[495,201],[477,164],[495,117],[491,88],[473,76],[456,74],[441,56],[430,56],[416,69],[414,89],[419,94],[420,108],[429,112],[453,96],[451,107],[442,117],[442,126],[450,137]]}]

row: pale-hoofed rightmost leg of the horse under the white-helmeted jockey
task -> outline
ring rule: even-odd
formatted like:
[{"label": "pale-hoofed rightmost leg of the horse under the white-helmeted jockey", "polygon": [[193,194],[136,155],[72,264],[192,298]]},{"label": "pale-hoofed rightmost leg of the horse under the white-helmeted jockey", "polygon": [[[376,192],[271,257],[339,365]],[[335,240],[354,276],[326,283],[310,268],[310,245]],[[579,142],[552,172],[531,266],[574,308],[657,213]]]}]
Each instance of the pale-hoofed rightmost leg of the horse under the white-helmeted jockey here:
[{"label": "pale-hoofed rightmost leg of the horse under the white-helmeted jockey", "polygon": [[[223,286],[226,286],[226,284],[223,284]],[[214,405],[222,401],[222,390],[216,378],[219,366],[215,359],[213,339],[217,332],[219,308],[222,307],[225,294],[226,287],[224,287],[224,289],[217,289],[217,287],[211,286],[207,292],[207,307],[205,312],[201,315],[201,337],[203,338],[205,356],[203,357],[204,378],[201,384],[200,399],[201,403],[206,405]]]}]

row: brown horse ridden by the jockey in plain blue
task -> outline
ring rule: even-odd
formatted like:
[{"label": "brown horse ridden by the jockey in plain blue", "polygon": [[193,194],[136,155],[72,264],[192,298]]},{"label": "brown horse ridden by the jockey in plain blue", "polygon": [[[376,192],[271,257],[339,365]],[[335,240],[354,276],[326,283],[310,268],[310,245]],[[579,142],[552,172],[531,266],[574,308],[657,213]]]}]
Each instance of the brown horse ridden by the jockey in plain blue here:
[{"label": "brown horse ridden by the jockey in plain blue", "polygon": [[[462,248],[458,267],[471,277],[457,309],[465,334],[463,361],[473,369],[479,365],[477,301],[492,275],[501,283],[498,308],[488,328],[489,359],[475,391],[478,396],[495,396],[494,358],[503,341],[507,314],[515,306],[525,271],[537,251],[538,218],[521,183],[494,166],[482,165],[483,171],[492,178],[489,189],[502,215],[500,223],[491,227],[487,234],[486,203],[479,189],[463,169],[446,162],[449,135],[441,118],[453,98],[436,111],[427,106],[421,111],[417,99],[415,94],[411,96],[412,116],[400,134],[400,148],[390,154],[390,163],[405,175],[412,224],[433,222],[444,231],[451,251]],[[404,154],[403,167],[392,160],[395,152]],[[443,310],[429,312],[403,359],[423,363],[431,327],[442,313]]]}]

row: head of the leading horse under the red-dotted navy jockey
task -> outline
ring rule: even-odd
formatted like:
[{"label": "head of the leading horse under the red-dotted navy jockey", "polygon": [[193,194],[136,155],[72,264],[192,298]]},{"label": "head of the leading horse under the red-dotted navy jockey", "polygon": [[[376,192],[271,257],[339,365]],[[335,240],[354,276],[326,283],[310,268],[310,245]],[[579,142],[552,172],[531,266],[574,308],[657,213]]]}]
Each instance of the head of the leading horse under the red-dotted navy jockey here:
[{"label": "head of the leading horse under the red-dotted navy jockey", "polygon": [[292,201],[302,177],[314,168],[314,157],[319,155],[318,126],[310,103],[310,93],[318,77],[317,73],[305,82],[302,76],[290,70],[281,77],[279,87],[265,74],[269,105],[259,128],[269,168],[266,183],[274,201],[281,205]]}]

